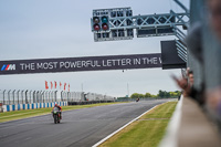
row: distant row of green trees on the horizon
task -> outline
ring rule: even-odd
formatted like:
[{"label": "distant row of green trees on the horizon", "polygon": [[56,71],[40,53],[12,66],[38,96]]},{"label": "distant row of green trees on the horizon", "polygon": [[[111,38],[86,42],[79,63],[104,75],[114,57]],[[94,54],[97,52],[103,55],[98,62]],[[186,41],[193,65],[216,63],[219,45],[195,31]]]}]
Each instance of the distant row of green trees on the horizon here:
[{"label": "distant row of green trees on the horizon", "polygon": [[166,91],[159,91],[157,95],[150,94],[150,93],[146,93],[146,94],[139,94],[139,93],[134,93],[130,95],[130,98],[156,98],[156,97],[160,97],[160,98],[176,98],[179,97],[181,95],[180,91],[175,91],[175,92],[166,92]]}]

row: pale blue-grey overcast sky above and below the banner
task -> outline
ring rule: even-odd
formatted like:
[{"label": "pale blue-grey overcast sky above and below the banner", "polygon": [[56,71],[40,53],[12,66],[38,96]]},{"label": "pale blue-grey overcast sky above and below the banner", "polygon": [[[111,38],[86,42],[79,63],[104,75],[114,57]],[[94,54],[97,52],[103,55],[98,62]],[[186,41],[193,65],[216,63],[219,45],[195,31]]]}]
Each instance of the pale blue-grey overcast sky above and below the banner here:
[{"label": "pale blue-grey overcast sky above and below the banner", "polygon": [[[189,8],[189,0],[180,0]],[[94,42],[93,9],[130,7],[133,14],[182,10],[172,0],[1,0],[0,60],[31,60],[160,53],[160,41],[175,36]],[[170,74],[180,70],[143,69],[0,75],[0,90],[44,90],[44,81],[70,83],[73,92],[125,96],[129,92],[179,90]],[[128,86],[127,86],[128,85]]]}]

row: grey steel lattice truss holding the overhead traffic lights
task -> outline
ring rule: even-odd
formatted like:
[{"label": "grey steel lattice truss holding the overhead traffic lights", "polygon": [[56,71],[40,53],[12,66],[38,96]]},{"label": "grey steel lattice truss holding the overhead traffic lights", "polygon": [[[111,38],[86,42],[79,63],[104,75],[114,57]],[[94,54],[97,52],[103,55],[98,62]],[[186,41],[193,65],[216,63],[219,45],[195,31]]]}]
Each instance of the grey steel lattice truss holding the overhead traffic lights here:
[{"label": "grey steel lattice truss holding the overhead traffic lights", "polygon": [[183,18],[189,18],[189,13],[170,13],[164,14],[149,14],[149,15],[134,15],[134,17],[118,17],[109,18],[109,28],[112,30],[118,29],[147,29],[158,27],[173,27],[185,25],[189,21],[185,21]]}]

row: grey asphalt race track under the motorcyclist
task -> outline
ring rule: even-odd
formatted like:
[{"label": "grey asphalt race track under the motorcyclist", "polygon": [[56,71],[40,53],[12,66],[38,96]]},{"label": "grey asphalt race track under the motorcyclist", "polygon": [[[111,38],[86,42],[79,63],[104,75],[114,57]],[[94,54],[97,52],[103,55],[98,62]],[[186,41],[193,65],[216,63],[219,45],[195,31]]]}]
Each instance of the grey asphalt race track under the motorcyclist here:
[{"label": "grey asphalt race track under the motorcyclist", "polygon": [[1,147],[91,147],[131,119],[168,99],[122,103],[0,123]]}]

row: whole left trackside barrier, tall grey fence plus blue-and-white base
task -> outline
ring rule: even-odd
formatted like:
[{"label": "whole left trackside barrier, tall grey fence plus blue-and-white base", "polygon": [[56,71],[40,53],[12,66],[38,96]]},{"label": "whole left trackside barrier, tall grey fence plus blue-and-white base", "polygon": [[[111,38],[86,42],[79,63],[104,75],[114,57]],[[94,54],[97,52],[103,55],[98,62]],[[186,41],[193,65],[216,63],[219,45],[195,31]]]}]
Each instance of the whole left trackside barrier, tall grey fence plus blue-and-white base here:
[{"label": "whole left trackside barrier, tall grey fence plus blue-and-white base", "polygon": [[0,112],[113,102],[115,97],[84,92],[0,90]]}]

